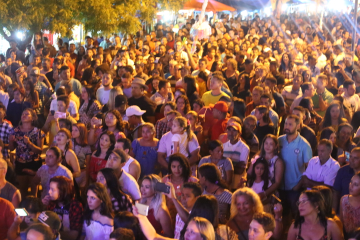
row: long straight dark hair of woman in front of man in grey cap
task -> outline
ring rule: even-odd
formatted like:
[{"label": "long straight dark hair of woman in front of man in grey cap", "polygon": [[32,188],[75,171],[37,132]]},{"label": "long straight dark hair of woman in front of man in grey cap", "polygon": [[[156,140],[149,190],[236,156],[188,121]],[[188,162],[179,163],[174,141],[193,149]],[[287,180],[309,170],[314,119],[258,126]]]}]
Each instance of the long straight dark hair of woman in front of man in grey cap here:
[{"label": "long straight dark hair of woman in front of man in grey cap", "polygon": [[[118,179],[115,175],[115,172],[112,168],[102,168],[99,170],[102,175],[105,178],[106,181],[106,185],[107,188],[110,190],[111,195],[118,201],[118,202],[124,202],[123,197],[125,196],[126,198],[126,194],[121,190],[121,186],[118,182]],[[124,204],[118,204],[118,206],[123,206]],[[128,209],[121,209],[119,208],[119,211],[127,211]]]}]

